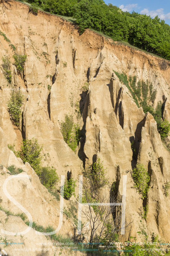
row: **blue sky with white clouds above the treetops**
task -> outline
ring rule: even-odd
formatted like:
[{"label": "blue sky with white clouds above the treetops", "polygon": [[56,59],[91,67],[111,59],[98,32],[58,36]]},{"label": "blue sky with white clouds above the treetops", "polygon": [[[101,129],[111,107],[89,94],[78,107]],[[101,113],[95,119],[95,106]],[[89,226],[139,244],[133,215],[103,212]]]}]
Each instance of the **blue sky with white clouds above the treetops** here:
[{"label": "blue sky with white clouds above the treetops", "polygon": [[105,0],[105,3],[116,5],[123,11],[132,12],[134,10],[141,14],[147,14],[152,18],[158,15],[161,20],[165,20],[170,25],[170,0]]}]

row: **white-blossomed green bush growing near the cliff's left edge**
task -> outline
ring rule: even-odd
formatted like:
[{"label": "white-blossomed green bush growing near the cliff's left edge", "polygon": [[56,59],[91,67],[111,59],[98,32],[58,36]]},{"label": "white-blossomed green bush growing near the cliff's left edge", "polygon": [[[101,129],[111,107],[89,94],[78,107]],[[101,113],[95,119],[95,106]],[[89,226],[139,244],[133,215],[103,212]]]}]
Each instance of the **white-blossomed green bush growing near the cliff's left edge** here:
[{"label": "white-blossomed green bush growing near the cliff's left edge", "polygon": [[8,101],[8,112],[13,123],[19,127],[21,119],[21,108],[23,105],[24,96],[20,90],[13,88],[11,98]]}]

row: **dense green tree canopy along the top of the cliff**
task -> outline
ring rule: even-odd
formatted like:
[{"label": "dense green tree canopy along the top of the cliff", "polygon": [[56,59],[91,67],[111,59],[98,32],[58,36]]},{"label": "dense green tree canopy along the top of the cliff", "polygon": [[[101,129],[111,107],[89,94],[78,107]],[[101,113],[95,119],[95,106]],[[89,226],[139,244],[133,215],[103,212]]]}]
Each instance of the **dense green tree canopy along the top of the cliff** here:
[{"label": "dense green tree canopy along the top of the cliff", "polygon": [[103,0],[27,0],[50,13],[72,16],[80,33],[92,28],[113,40],[126,41],[145,51],[170,59],[170,26],[158,16],[123,12]]}]

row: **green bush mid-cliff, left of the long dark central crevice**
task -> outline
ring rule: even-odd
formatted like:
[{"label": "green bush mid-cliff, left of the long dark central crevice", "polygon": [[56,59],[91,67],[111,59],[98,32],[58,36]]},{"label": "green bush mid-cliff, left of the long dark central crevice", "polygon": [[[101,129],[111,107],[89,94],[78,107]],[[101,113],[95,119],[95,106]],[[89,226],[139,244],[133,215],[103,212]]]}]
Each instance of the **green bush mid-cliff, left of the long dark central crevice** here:
[{"label": "green bush mid-cliff, left of the long dark central crevice", "polygon": [[65,116],[65,121],[61,123],[61,133],[64,141],[75,152],[80,140],[80,128],[73,122],[73,116]]}]

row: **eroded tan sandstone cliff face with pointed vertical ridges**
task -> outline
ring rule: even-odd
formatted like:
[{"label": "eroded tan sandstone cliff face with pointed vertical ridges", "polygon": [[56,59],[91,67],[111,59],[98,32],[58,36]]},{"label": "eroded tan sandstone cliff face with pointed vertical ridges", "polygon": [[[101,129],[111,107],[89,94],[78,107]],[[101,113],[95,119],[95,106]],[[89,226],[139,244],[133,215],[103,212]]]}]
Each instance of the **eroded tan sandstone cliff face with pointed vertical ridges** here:
[{"label": "eroded tan sandstone cliff face with pointed vertical ridges", "polygon": [[[170,181],[170,152],[162,144],[152,115],[145,114],[142,107],[136,105],[130,91],[116,74],[124,73],[128,78],[136,76],[136,84],[139,81],[152,83],[152,90],[156,90],[154,107],[161,101],[164,104],[162,117],[170,121],[170,70],[160,70],[160,60],[155,56],[119,45],[89,30],[79,35],[76,28],[62,18],[41,11],[34,16],[28,13],[27,5],[15,1],[11,2],[10,9],[0,5],[0,21],[0,30],[11,41],[8,43],[0,36],[0,59],[4,55],[12,59],[14,52],[10,44],[16,47],[16,52],[27,55],[23,80],[17,75],[15,67],[11,67],[13,83],[25,90],[20,130],[16,130],[10,121],[7,111],[10,92],[4,90],[9,87],[3,71],[0,72],[0,163],[4,168],[11,163],[19,167],[21,163],[8,150],[7,144],[14,143],[15,148],[19,149],[22,138],[34,137],[43,145],[43,153],[49,153],[44,164],[53,165],[59,175],[66,176],[72,169],[73,178],[78,180],[82,168],[87,168],[100,158],[104,161],[112,184],[116,180],[119,166],[121,179],[122,175],[127,175],[126,215],[133,220],[130,232],[123,239],[139,236],[139,241],[140,235],[137,232],[145,229],[149,238],[154,232],[162,240],[168,241],[170,202],[162,186]],[[82,90],[85,82],[88,82],[87,94]],[[81,117],[75,112],[77,101]],[[83,128],[83,137],[76,153],[64,142],[60,132],[60,122],[68,113],[73,114],[75,122]],[[136,160],[132,157],[132,140],[137,149]],[[146,202],[143,202],[133,187],[131,177],[136,162],[147,166],[151,177],[146,221],[140,214]],[[26,173],[36,176],[29,165],[22,168],[26,169]],[[5,175],[8,175],[6,169]],[[36,176],[34,182],[37,179]],[[27,183],[30,191],[39,189],[35,192],[39,198],[37,201],[33,203],[28,197],[24,203],[23,198],[27,197],[28,192],[25,191],[24,197],[20,198],[17,191],[21,188],[13,191],[13,195],[25,208],[28,205],[31,209],[36,207],[36,212],[32,209],[31,214],[39,224],[42,224],[41,220],[48,223],[51,218],[51,212],[46,207],[52,209],[54,215],[58,212],[50,221],[57,226],[59,205],[47,199],[50,195],[44,192],[41,184],[37,188],[36,184]],[[12,190],[13,185],[10,186]],[[119,183],[118,194],[117,198],[121,201],[122,181]],[[5,205],[7,198],[3,193],[1,195]],[[17,211],[17,207],[12,204],[8,207]],[[70,234],[71,230],[70,226]],[[63,226],[62,233],[67,231]]]}]

